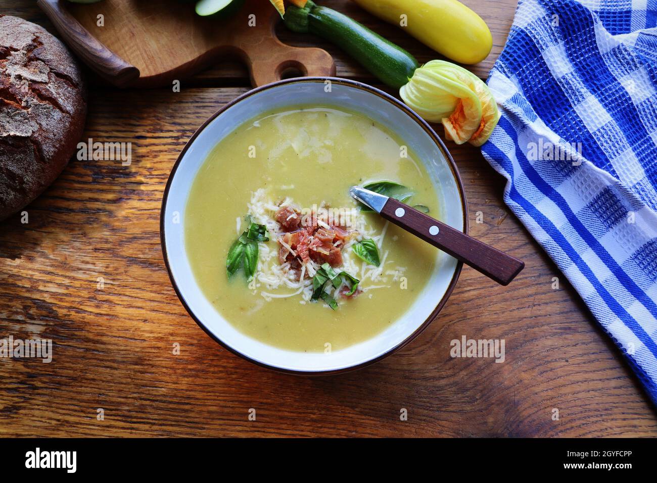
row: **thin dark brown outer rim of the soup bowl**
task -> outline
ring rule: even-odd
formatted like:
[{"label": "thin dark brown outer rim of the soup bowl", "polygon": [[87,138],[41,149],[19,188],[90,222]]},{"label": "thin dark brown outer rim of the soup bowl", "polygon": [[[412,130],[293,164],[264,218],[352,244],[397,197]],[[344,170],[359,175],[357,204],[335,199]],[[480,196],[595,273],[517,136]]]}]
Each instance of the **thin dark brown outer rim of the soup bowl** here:
[{"label": "thin dark brown outer rim of the soup bowl", "polygon": [[203,323],[194,315],[194,312],[189,308],[187,305],[187,302],[185,301],[185,298],[181,294],[178,285],[173,278],[173,273],[171,273],[171,267],[169,265],[169,258],[167,256],[167,251],[166,251],[166,239],[164,237],[164,213],[166,212],[166,202],[169,197],[169,189],[171,187],[171,181],[173,180],[173,177],[175,176],[175,172],[178,169],[178,166],[180,165],[181,160],[183,159],[183,156],[185,156],[185,152],[187,152],[187,149],[194,143],[194,139],[196,139],[196,136],[205,129],[210,122],[212,122],[219,114],[233,106],[234,104],[237,104],[238,102],[242,101],[242,99],[246,99],[247,97],[250,97],[251,95],[254,95],[256,93],[259,93],[261,91],[265,91],[266,89],[271,89],[272,87],[277,87],[279,85],[284,85],[284,84],[290,84],[290,83],[298,83],[298,82],[325,82],[325,81],[331,81],[333,83],[338,83],[340,85],[348,85],[350,87],[355,87],[356,89],[362,89],[363,91],[368,91],[370,93],[373,93],[374,95],[377,95],[378,97],[381,97],[382,99],[385,99],[391,104],[394,104],[397,108],[402,110],[409,116],[411,119],[415,120],[417,124],[424,129],[424,131],[431,137],[431,139],[434,140],[434,143],[440,148],[440,150],[443,153],[443,156],[445,156],[445,159],[447,160],[449,164],[449,168],[451,169],[452,175],[457,183],[457,187],[459,189],[459,196],[461,196],[461,208],[463,209],[463,227],[464,227],[464,233],[468,233],[468,202],[465,197],[465,190],[463,189],[463,181],[461,181],[461,175],[459,175],[459,170],[451,157],[451,154],[449,154],[449,151],[445,147],[445,144],[443,143],[442,139],[438,137],[436,132],[427,124],[425,120],[420,118],[418,114],[416,114],[411,108],[409,108],[406,104],[403,104],[401,101],[397,100],[395,97],[392,97],[392,95],[385,93],[384,91],[381,91],[379,89],[376,89],[376,87],[372,87],[371,85],[367,85],[362,82],[358,81],[353,81],[349,79],[342,79],[342,78],[336,78],[336,77],[298,77],[298,78],[290,78],[290,79],[285,79],[285,80],[280,80],[280,81],[275,81],[266,85],[262,85],[261,87],[256,87],[255,89],[251,89],[250,91],[236,97],[233,99],[233,101],[225,104],[221,109],[217,110],[212,116],[210,116],[192,135],[191,138],[189,138],[189,141],[187,141],[187,144],[185,144],[185,147],[183,150],[180,152],[178,155],[177,160],[175,160],[175,164],[173,164],[173,168],[171,168],[171,173],[169,174],[169,179],[167,180],[166,183],[166,188],[164,189],[164,195],[162,196],[162,208],[160,208],[160,245],[162,246],[162,256],[164,257],[164,264],[166,265],[167,272],[169,273],[169,279],[171,280],[171,285],[173,285],[173,290],[175,290],[175,294],[178,296],[181,304],[183,304],[183,307],[185,307],[185,310],[187,310],[187,313],[189,313],[189,316],[194,319],[198,327],[203,329],[203,331],[208,334],[211,338],[215,340],[215,342],[221,344],[223,348],[226,350],[229,350],[236,356],[242,357],[242,359],[246,359],[249,362],[252,362],[256,365],[260,365],[261,367],[266,367],[267,369],[272,369],[273,371],[277,371],[279,373],[286,373],[286,374],[294,374],[294,375],[304,375],[304,376],[324,376],[324,375],[333,375],[333,374],[340,374],[340,373],[346,373],[350,371],[355,371],[356,369],[362,369],[363,367],[366,367],[368,365],[374,364],[381,359],[384,359],[384,357],[390,356],[390,354],[394,354],[397,352],[399,349],[403,348],[406,344],[414,340],[417,336],[419,336],[424,329],[426,329],[430,323],[432,323],[436,317],[438,316],[438,313],[443,309],[445,304],[447,303],[447,299],[449,296],[451,296],[451,293],[454,290],[454,287],[456,286],[457,281],[459,280],[459,275],[461,275],[461,269],[463,268],[463,262],[458,262],[456,265],[456,268],[454,270],[454,275],[449,282],[449,285],[447,286],[447,290],[445,290],[445,294],[443,294],[442,299],[440,302],[438,302],[438,305],[436,305],[436,308],[428,315],[428,317],[424,320],[422,325],[415,329],[411,335],[409,335],[407,338],[399,342],[396,346],[394,346],[392,349],[384,352],[384,354],[381,354],[378,357],[374,357],[374,359],[370,359],[369,361],[357,364],[357,365],[352,365],[350,367],[343,367],[342,369],[334,369],[331,371],[295,371],[292,369],[283,369],[281,367],[275,367],[273,365],[265,364],[260,361],[256,361],[252,359],[251,357],[248,357],[238,350],[232,348],[228,344],[225,344],[223,340],[221,340],[219,337],[215,336]]}]

